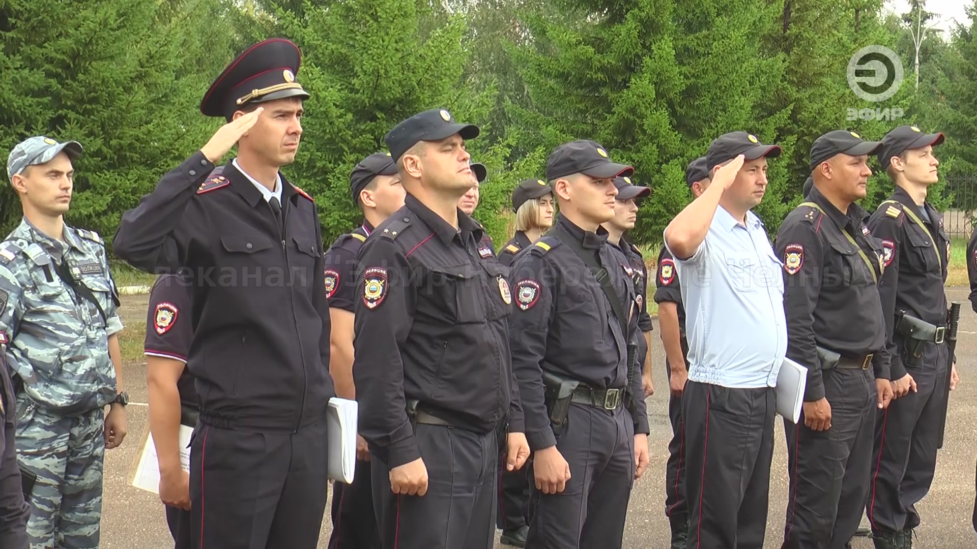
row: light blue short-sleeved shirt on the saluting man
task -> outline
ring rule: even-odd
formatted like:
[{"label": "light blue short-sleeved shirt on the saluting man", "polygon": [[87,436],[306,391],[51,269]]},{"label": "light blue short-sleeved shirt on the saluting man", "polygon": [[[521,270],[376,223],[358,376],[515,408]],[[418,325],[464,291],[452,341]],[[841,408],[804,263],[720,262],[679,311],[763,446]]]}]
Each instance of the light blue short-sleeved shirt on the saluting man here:
[{"label": "light blue short-sleeved shirt on the saluting man", "polygon": [[689,379],[741,389],[777,386],[787,350],[783,268],[753,212],[744,227],[716,208],[696,253],[675,258]]}]

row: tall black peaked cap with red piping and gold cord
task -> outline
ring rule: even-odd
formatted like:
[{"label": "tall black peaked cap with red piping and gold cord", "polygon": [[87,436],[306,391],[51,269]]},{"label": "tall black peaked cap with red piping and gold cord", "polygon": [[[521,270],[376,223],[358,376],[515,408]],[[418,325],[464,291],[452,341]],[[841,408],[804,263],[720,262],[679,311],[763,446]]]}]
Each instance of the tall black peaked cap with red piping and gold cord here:
[{"label": "tall black peaked cap with red piping and gold cord", "polygon": [[302,63],[299,47],[284,38],[254,44],[237,56],[210,85],[200,102],[204,116],[231,118],[248,104],[284,98],[306,99],[295,78]]}]

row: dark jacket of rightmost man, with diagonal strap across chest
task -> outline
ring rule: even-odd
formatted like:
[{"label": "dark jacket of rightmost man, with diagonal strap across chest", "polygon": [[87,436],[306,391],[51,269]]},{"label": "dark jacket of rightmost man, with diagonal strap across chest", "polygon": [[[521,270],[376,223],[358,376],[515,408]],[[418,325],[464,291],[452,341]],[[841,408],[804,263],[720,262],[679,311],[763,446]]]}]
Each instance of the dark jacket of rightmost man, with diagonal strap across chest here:
[{"label": "dark jacket of rightmost man, with diagonal strap across chest", "polygon": [[[926,215],[922,215],[925,210]],[[927,221],[928,217],[928,221]],[[881,239],[885,273],[878,283],[885,318],[892,379],[906,375],[895,334],[895,314],[903,311],[935,326],[947,324],[947,267],[950,237],[943,216],[928,202],[916,206],[909,192],[897,187],[871,215],[869,228]]]}]

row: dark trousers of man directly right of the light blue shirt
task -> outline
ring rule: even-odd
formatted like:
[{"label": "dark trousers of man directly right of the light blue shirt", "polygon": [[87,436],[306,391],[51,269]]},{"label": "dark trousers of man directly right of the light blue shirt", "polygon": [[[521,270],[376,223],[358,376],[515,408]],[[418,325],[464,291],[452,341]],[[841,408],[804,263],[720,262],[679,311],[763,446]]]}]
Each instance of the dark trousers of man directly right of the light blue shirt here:
[{"label": "dark trousers of man directly right of the light blue shirt", "polygon": [[878,396],[871,367],[841,359],[823,370],[831,427],[786,421],[790,490],[783,549],[843,549],[862,521],[869,493]]}]

